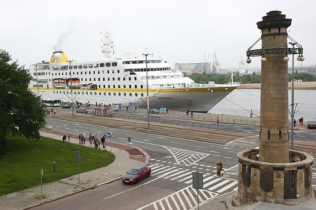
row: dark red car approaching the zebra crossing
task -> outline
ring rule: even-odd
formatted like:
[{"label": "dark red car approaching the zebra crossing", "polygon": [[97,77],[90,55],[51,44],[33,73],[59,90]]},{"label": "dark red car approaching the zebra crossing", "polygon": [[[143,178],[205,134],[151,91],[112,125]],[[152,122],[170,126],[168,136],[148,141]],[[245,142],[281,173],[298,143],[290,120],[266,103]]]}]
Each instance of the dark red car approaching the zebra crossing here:
[{"label": "dark red car approaching the zebra crossing", "polygon": [[148,177],[150,173],[152,173],[152,169],[148,166],[135,166],[126,172],[126,175],[123,175],[122,182],[124,184],[135,184]]}]

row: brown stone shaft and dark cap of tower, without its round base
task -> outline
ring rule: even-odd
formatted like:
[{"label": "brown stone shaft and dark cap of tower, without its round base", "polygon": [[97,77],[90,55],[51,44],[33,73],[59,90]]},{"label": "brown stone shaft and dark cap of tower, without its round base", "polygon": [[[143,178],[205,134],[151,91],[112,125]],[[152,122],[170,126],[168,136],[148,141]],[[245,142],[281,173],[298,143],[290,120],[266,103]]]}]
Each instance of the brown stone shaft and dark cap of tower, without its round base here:
[{"label": "brown stone shaft and dark cap of tower, without its round base", "polygon": [[[280,11],[271,11],[257,27],[262,31],[262,48],[287,47],[286,28],[292,19]],[[288,74],[284,54],[263,55],[261,64],[260,161],[286,163],[289,158]]]}]

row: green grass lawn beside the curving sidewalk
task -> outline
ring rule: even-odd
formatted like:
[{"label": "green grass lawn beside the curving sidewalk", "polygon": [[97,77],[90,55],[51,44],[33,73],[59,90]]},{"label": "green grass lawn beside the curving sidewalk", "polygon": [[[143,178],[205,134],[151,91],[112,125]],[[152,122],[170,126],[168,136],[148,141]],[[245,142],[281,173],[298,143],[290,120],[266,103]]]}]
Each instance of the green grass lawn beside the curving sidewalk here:
[{"label": "green grass lawn beside the curving sidewalk", "polygon": [[80,173],[105,167],[115,159],[105,150],[45,137],[39,141],[11,137],[7,144],[9,152],[0,156],[0,195],[40,185],[40,169],[42,183],[78,174],[75,150],[80,151]]}]

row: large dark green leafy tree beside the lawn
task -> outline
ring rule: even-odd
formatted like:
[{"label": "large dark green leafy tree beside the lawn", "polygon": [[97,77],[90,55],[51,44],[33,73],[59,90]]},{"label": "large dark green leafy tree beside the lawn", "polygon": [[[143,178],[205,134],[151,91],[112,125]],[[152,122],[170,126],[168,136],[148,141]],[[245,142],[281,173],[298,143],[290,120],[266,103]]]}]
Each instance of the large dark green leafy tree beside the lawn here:
[{"label": "large dark green leafy tree beside the lawn", "polygon": [[8,135],[24,135],[40,139],[40,128],[45,125],[45,106],[40,97],[28,88],[32,76],[19,67],[17,61],[0,49],[0,152],[6,150]]}]

